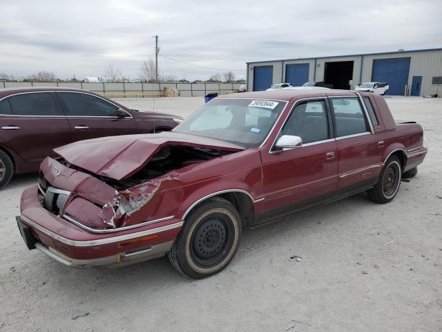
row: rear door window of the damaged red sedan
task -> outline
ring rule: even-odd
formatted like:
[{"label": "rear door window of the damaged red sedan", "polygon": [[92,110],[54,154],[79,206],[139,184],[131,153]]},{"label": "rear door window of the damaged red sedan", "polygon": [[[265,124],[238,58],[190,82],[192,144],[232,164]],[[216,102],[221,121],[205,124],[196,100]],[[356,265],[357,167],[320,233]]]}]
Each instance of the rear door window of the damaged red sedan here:
[{"label": "rear door window of the damaged red sedan", "polygon": [[347,136],[369,131],[363,109],[357,98],[331,98],[336,136]]}]

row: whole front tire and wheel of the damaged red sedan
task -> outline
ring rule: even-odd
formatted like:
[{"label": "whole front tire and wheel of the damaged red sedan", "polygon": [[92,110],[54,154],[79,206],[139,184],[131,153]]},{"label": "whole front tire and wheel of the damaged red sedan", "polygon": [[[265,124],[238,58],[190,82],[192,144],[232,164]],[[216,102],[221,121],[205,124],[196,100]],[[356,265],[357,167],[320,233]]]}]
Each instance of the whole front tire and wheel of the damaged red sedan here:
[{"label": "whole front tire and wheel of the damaged red sedan", "polygon": [[233,259],[241,233],[240,214],[233,204],[220,197],[207,199],[186,217],[169,260],[187,277],[209,277]]}]

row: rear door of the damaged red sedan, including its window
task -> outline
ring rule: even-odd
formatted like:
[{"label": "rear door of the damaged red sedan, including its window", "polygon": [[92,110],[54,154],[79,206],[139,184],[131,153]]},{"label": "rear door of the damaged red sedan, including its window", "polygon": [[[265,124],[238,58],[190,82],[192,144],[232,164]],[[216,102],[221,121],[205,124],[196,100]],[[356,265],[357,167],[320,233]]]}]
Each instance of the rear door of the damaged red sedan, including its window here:
[{"label": "rear door of the damaged red sedan, including its window", "polygon": [[329,97],[329,103],[339,155],[338,196],[346,196],[376,183],[385,149],[383,133],[375,133],[358,97]]}]

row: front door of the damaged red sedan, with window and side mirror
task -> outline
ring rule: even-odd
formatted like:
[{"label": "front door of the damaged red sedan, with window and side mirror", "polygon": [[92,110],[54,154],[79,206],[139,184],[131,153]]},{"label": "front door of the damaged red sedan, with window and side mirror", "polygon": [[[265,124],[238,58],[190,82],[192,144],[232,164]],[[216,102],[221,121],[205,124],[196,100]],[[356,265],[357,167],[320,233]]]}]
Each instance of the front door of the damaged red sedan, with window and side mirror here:
[{"label": "front door of the damaged red sedan, with window and side mirror", "polygon": [[282,127],[282,135],[299,136],[302,147],[261,150],[265,219],[278,219],[334,199],[338,151],[332,138],[327,100],[300,101]]}]

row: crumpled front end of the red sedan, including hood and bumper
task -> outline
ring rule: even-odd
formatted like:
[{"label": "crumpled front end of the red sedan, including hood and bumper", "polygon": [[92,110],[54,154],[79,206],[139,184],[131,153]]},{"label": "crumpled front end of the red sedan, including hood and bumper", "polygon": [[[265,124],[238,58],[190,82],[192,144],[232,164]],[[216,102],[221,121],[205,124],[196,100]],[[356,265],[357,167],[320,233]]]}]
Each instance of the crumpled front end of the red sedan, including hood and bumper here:
[{"label": "crumpled front end of the red sedan, including hood and bumper", "polygon": [[183,225],[183,188],[203,179],[193,167],[239,150],[159,134],[57,148],[21,195],[19,230],[28,248],[77,268],[161,257]]}]

